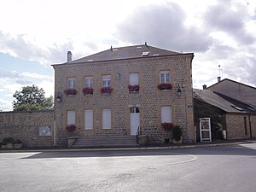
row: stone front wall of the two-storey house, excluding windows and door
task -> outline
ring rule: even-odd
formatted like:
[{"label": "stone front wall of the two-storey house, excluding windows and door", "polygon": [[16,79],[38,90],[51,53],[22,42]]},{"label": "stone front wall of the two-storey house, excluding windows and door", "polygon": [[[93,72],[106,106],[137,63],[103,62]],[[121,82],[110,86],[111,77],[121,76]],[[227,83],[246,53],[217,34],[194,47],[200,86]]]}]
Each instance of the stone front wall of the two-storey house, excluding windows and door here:
[{"label": "stone front wall of the two-storey house, excluding windows and door", "polygon": [[[55,68],[55,96],[61,93],[61,102],[55,102],[57,145],[67,146],[67,137],[129,136],[131,135],[130,110],[140,109],[140,125],[149,143],[163,143],[171,137],[170,131],[161,128],[161,107],[172,108],[172,124],[183,129],[183,141],[195,141],[193,123],[192,72],[193,54],[178,54],[137,59],[90,61],[53,65]],[[171,74],[172,90],[159,90],[160,71]],[[139,92],[130,93],[129,74],[138,73]],[[102,75],[110,75],[111,95],[101,93]],[[84,96],[84,77],[91,76],[93,95]],[[75,79],[74,96],[66,96],[67,79]],[[177,96],[177,90],[181,96]],[[56,101],[56,98],[55,98]],[[102,109],[111,109],[111,129],[102,129]],[[93,129],[84,130],[84,110],[93,110]],[[75,111],[76,130],[68,132],[67,111]]]}]

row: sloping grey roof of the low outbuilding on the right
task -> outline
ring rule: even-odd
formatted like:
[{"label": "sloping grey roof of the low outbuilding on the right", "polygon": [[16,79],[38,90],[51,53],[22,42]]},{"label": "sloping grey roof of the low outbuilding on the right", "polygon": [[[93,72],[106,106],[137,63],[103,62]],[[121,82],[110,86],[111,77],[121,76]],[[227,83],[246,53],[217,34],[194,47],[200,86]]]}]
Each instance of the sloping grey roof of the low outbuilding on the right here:
[{"label": "sloping grey roof of the low outbuilding on the right", "polygon": [[[225,100],[223,97],[218,96],[212,90],[198,90],[193,89],[194,98],[207,102],[208,104],[220,108],[228,113],[247,113],[242,108],[237,108],[236,104]],[[232,107],[233,106],[233,107]]]}]

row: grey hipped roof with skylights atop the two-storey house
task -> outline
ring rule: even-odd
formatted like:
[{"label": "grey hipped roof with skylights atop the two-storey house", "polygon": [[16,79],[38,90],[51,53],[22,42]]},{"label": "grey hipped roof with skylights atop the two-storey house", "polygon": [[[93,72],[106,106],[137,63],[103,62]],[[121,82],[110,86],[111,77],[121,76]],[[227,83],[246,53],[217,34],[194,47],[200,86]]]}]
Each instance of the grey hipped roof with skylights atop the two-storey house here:
[{"label": "grey hipped roof with skylights atop the two-storey house", "polygon": [[110,48],[94,55],[88,55],[78,60],[70,61],[68,63],[81,63],[91,61],[112,61],[112,60],[124,60],[159,56],[159,55],[182,55],[182,53],[160,49],[147,44],[140,44],[128,47]]}]

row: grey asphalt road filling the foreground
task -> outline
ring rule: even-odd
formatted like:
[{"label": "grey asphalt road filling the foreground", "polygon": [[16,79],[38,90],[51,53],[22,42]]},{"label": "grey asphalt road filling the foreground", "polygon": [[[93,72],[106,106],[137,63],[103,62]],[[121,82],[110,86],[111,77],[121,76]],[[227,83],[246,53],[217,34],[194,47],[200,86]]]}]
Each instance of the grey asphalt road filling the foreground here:
[{"label": "grey asphalt road filling the foreground", "polygon": [[0,153],[0,191],[256,191],[256,143]]}]

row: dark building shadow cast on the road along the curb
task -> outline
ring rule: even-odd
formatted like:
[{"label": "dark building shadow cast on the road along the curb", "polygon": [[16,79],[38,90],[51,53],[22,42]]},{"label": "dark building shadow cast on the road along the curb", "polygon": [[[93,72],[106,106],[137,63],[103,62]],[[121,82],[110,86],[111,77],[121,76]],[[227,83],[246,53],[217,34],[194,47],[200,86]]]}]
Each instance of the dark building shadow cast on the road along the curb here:
[{"label": "dark building shadow cast on the road along the curb", "polygon": [[[256,143],[250,144],[198,147],[198,148],[158,148],[158,149],[108,149],[108,150],[76,150],[58,152],[39,152],[22,159],[44,159],[44,158],[88,158],[88,157],[115,157],[115,156],[154,156],[154,155],[255,155]],[[256,157],[255,157],[256,158]]]}]

